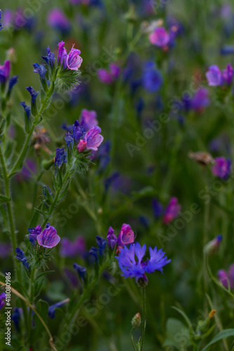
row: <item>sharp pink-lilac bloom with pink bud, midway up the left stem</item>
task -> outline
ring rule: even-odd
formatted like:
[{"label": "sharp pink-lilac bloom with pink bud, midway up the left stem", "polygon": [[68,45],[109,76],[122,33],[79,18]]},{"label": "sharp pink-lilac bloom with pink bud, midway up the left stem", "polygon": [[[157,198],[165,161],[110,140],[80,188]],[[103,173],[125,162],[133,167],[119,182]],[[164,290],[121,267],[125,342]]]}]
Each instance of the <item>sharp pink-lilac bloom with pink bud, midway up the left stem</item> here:
[{"label": "sharp pink-lilac bloom with pink bud, midway up the left stem", "polygon": [[[100,127],[93,126],[83,137],[82,140],[79,141],[77,145],[77,150],[79,152],[83,150],[98,150],[98,146],[103,143],[103,135],[100,135],[101,132]],[[81,150],[81,151],[80,151]]]}]

